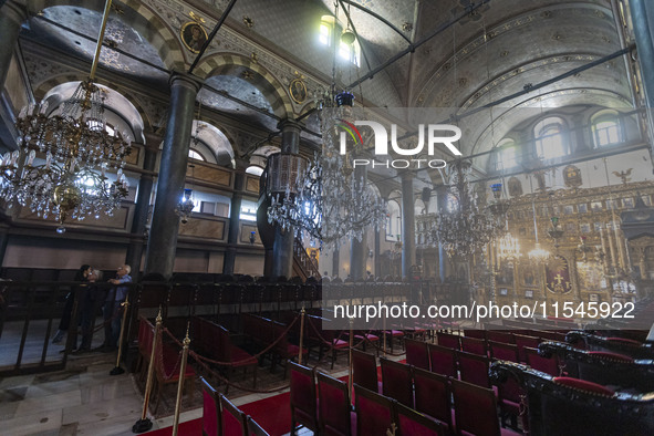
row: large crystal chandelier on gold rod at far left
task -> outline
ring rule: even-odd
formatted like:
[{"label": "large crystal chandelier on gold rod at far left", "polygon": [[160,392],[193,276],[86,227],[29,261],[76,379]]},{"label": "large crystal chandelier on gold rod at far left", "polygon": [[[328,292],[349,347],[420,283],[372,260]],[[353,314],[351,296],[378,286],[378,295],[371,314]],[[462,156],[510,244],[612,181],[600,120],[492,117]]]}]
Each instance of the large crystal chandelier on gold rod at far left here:
[{"label": "large crystal chandelier on gold rod at far left", "polygon": [[[49,116],[48,102],[23,107],[15,122],[18,149],[0,162],[0,197],[8,207],[17,201],[39,217],[56,216],[58,232],[66,219],[112,215],[127,196],[124,158],[132,150],[126,135],[106,131],[95,70],[111,7],[105,6],[89,80],[81,82],[61,111]],[[116,169],[110,181],[107,169]]]}]

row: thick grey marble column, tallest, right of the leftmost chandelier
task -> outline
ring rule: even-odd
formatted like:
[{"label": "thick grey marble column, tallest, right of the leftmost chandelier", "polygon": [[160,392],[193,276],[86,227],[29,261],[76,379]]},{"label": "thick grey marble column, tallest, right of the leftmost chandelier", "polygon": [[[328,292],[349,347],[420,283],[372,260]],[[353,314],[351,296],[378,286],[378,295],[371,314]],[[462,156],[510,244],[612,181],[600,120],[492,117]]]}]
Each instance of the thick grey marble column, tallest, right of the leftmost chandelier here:
[{"label": "thick grey marble column, tallest, right of the leftmost chandelier", "polygon": [[153,210],[145,273],[158,272],[170,278],[175,267],[179,217],[175,207],[184,191],[188,148],[195,114],[195,100],[203,82],[186,73],[170,75],[170,107],[162,163],[157,177],[157,195]]}]

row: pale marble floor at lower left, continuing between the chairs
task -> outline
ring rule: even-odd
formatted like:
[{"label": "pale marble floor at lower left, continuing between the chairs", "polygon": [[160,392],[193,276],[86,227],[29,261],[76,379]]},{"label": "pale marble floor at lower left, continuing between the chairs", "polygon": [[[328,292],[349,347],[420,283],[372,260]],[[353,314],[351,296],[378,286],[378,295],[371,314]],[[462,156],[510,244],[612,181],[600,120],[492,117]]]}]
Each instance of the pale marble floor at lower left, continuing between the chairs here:
[{"label": "pale marble floor at lower left, continuing between the chairs", "polygon": [[[132,374],[108,374],[113,359],[113,354],[94,353],[72,359],[65,371],[0,380],[0,435],[133,436],[132,425],[141,418],[143,395]],[[346,371],[333,375],[340,377]],[[271,395],[276,394],[249,394],[232,402],[240,406]],[[181,413],[180,422],[201,417],[196,401],[198,407]],[[153,418],[153,429],[170,426],[173,416]]]}]

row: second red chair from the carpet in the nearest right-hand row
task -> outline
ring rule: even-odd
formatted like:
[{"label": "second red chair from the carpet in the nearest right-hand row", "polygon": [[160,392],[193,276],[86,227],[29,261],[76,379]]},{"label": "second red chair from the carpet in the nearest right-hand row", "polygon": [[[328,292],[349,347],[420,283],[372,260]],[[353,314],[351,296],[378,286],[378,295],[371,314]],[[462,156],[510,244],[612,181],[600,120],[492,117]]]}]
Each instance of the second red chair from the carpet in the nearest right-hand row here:
[{"label": "second red chair from the carpet in the nearest right-hand row", "polygon": [[320,433],[351,436],[356,432],[356,415],[352,411],[347,383],[319,372],[318,404]]}]

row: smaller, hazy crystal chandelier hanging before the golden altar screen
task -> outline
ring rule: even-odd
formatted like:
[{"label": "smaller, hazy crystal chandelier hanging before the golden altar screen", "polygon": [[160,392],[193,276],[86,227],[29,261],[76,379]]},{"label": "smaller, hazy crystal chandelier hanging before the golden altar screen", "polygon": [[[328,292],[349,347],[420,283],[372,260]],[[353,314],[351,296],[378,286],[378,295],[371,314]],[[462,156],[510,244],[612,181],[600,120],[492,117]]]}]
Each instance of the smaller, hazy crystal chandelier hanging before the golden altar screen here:
[{"label": "smaller, hazy crystal chandelier hanging before the golden altar screen", "polygon": [[456,199],[456,205],[453,211],[442,211],[428,238],[439,241],[450,257],[466,258],[490,242],[504,226],[489,208],[481,208],[474,196],[469,184],[471,164],[456,160],[453,172],[449,195]]}]

